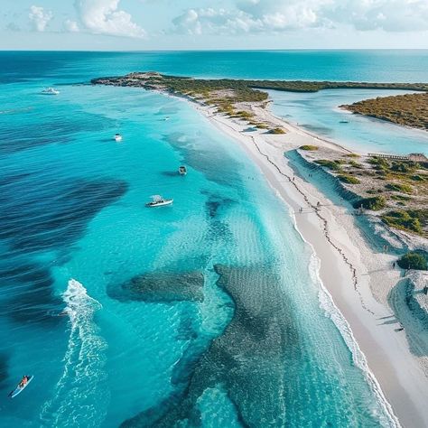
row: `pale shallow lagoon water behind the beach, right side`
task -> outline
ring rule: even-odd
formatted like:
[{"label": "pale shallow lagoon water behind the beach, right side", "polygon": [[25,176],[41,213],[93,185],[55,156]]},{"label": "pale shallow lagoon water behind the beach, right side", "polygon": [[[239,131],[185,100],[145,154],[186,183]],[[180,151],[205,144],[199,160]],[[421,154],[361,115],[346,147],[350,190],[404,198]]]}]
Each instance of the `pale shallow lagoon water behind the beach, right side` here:
[{"label": "pale shallow lagoon water behind the beach, right side", "polygon": [[[362,99],[402,95],[409,91],[326,89],[315,93],[269,91],[275,116],[312,134],[345,145],[359,153],[428,154],[428,133],[382,120],[353,115],[339,108]],[[340,123],[346,121],[348,123]]]}]

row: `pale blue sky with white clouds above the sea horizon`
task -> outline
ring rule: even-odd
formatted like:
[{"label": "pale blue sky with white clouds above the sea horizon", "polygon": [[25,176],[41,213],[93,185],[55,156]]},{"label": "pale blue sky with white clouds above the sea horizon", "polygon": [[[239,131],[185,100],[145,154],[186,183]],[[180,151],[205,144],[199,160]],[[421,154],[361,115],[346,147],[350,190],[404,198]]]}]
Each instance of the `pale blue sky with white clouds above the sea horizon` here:
[{"label": "pale blue sky with white clouds above the sea horizon", "polygon": [[1,0],[0,50],[428,49],[428,0]]}]

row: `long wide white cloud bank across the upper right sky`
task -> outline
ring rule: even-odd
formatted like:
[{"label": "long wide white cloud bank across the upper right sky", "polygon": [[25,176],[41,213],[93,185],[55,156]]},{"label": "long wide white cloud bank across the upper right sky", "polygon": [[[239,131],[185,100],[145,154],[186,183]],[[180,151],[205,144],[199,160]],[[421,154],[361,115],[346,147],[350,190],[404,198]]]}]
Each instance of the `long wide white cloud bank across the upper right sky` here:
[{"label": "long wide white cloud bank across the upper right sky", "polygon": [[348,24],[359,31],[428,30],[428,0],[236,0],[228,10],[188,9],[173,21],[181,33],[280,33]]}]

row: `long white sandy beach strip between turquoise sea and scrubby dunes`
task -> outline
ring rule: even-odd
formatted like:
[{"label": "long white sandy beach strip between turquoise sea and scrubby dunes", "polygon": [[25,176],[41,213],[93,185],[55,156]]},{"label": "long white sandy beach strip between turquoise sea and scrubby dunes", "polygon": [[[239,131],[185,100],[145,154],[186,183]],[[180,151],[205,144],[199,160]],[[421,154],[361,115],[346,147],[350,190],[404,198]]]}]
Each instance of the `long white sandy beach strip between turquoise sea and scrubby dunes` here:
[{"label": "long white sandy beach strip between turquoise sea and scrubby dunes", "polygon": [[[295,176],[284,157],[284,152],[302,144],[327,145],[344,153],[348,150],[291,126],[259,107],[252,107],[259,118],[282,126],[287,133],[244,132],[248,127],[245,122],[215,114],[210,107],[197,108],[241,144],[293,211],[296,228],[318,259],[321,287],[326,287],[348,322],[340,315],[333,315],[333,321],[340,326],[349,347],[357,347],[353,349],[356,364],[361,368],[368,364],[368,381],[379,399],[385,395],[392,406],[399,423],[393,418],[391,424],[428,426],[428,358],[411,353],[411,335],[399,330],[402,326],[387,304],[389,291],[400,280],[400,271],[392,268],[394,257],[375,253],[368,247],[354,217],[345,208],[334,205],[310,182]],[[317,212],[314,208],[318,202],[321,209]]]}]

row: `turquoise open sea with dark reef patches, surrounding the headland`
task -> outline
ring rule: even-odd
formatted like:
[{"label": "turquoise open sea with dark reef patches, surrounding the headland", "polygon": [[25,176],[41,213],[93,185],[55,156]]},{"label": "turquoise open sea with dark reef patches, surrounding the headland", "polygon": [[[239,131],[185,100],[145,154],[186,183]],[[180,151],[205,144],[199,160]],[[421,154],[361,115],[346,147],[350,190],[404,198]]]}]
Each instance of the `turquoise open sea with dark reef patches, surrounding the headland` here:
[{"label": "turquoise open sea with dark reef patches, surrounding the headland", "polygon": [[[311,248],[237,144],[181,100],[86,83],[134,70],[428,81],[425,51],[0,62],[1,426],[394,426]],[[156,193],[173,206],[144,208]]]}]

